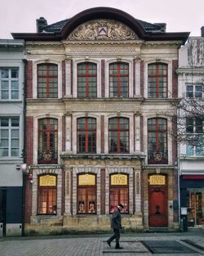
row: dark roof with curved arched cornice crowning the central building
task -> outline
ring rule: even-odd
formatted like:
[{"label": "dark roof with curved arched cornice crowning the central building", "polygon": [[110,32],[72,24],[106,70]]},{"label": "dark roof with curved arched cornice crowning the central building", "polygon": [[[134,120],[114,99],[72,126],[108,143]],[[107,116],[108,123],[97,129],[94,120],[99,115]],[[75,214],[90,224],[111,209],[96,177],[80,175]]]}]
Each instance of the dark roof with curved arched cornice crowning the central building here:
[{"label": "dark roof with curved arched cornice crowning the central building", "polygon": [[78,25],[95,19],[118,20],[131,28],[140,39],[144,40],[180,40],[183,44],[188,39],[189,32],[165,32],[165,23],[151,24],[143,20],[136,20],[125,11],[110,7],[95,7],[79,12],[67,20],[61,20],[44,26],[42,33],[11,33],[15,39],[25,41],[60,41],[68,37]]}]

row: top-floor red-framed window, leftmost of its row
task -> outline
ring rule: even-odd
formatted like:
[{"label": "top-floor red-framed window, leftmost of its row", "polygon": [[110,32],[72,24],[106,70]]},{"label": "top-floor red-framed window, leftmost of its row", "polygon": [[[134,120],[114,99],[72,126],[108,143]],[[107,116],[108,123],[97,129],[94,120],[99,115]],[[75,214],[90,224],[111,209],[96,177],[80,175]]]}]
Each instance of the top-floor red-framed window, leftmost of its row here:
[{"label": "top-floor red-framed window, leftmost of its row", "polygon": [[58,66],[55,64],[38,65],[38,98],[58,97]]}]

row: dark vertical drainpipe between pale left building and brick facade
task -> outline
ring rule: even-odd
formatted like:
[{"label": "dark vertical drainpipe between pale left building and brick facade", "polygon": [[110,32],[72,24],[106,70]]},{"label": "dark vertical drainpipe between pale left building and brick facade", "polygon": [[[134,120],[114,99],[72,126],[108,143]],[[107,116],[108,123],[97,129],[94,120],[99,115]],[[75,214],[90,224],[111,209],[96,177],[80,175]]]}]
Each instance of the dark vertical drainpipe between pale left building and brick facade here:
[{"label": "dark vertical drainpipe between pale left building and brick facade", "polygon": [[[26,63],[24,59],[24,99],[23,99],[23,118],[24,118],[24,149],[23,149],[23,160],[24,164],[26,163]],[[25,181],[26,173],[23,172],[23,207],[22,207],[22,236],[24,236],[24,204],[25,204]]]}]

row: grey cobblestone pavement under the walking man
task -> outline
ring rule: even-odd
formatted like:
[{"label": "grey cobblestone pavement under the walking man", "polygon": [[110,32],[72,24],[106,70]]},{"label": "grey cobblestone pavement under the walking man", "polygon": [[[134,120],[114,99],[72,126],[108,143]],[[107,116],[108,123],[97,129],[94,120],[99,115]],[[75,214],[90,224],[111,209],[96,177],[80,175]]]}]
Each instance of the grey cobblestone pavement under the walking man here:
[{"label": "grey cobblestone pavement under the walking man", "polygon": [[[67,235],[67,236],[24,236],[0,238],[1,256],[197,256],[204,255],[204,230],[173,233],[128,233],[122,234],[121,246],[114,249],[106,244],[110,234],[103,235]],[[175,240],[194,249],[193,254],[151,254],[144,246],[145,240]],[[189,245],[190,240],[197,247]]]}]

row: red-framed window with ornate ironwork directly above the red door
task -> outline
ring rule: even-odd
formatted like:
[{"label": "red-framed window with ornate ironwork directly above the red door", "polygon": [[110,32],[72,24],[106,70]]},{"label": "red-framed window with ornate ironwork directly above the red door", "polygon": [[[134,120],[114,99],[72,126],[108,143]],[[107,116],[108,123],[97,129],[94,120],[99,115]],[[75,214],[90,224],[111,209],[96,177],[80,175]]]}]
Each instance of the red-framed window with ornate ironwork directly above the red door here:
[{"label": "red-framed window with ornate ironwork directly above the red door", "polygon": [[148,163],[168,164],[166,119],[148,120]]}]

